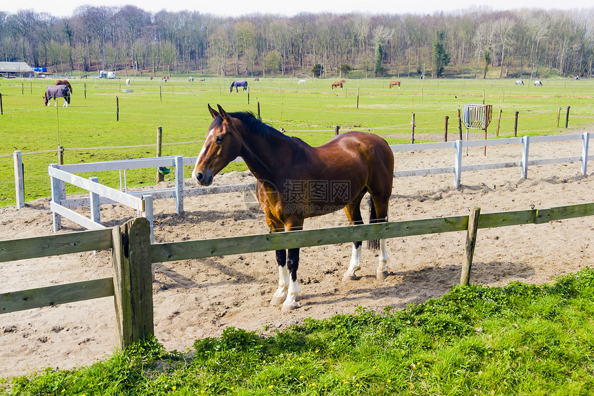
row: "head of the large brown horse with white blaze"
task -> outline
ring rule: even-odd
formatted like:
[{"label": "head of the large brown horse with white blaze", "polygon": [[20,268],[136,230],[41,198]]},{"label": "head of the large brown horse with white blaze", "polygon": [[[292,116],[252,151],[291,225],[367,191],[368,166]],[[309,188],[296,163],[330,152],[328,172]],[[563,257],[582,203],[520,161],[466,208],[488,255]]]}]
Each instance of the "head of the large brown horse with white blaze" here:
[{"label": "head of the large brown horse with white blaze", "polygon": [[192,178],[203,186],[211,185],[213,177],[235,160],[242,148],[238,131],[241,121],[231,117],[220,105],[217,106],[219,111],[212,109],[209,104],[209,112],[214,120],[192,171]]}]

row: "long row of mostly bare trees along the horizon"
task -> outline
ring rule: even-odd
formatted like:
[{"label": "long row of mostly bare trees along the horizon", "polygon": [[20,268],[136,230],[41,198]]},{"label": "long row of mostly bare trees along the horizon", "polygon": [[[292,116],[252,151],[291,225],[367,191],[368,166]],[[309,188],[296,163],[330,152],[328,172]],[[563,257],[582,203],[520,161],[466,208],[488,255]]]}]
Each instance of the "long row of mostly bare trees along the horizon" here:
[{"label": "long row of mostly bare trees along the horizon", "polygon": [[316,66],[322,76],[520,77],[542,67],[590,76],[593,26],[594,8],[223,18],[81,6],[66,18],[0,12],[0,60],[54,73],[309,76]]}]

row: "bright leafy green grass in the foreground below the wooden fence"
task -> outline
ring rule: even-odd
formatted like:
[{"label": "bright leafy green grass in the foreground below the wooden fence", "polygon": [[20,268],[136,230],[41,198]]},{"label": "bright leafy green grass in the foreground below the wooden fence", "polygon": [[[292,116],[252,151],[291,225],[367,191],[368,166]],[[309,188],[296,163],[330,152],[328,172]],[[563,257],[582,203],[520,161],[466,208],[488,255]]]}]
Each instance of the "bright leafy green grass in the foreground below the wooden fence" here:
[{"label": "bright leafy green grass in the foreground below the wooden fence", "polygon": [[[184,355],[154,338],[12,395],[591,395],[594,270],[552,285],[457,286],[403,311],[227,328]],[[11,393],[12,392],[12,393]]]}]

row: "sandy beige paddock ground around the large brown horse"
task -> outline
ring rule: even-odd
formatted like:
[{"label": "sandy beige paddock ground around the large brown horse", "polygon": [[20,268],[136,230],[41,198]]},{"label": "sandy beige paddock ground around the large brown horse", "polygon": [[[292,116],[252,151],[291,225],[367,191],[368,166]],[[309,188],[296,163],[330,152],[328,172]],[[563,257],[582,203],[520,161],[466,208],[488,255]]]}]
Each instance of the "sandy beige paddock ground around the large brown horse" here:
[{"label": "sandy beige paddock ground around the large brown horse", "polygon": [[[581,154],[581,142],[531,144],[530,158]],[[449,150],[396,153],[396,169],[451,166]],[[464,164],[519,160],[521,147],[470,149]],[[519,168],[453,175],[397,178],[390,220],[546,208],[594,200],[594,175],[582,176],[579,163],[531,167],[528,178]],[[250,182],[249,173],[215,178],[218,185]],[[193,187],[191,180],[187,184]],[[161,183],[165,187],[168,182]],[[171,183],[169,182],[169,185]],[[184,241],[267,232],[264,216],[253,209],[251,193],[221,194],[184,200],[185,213],[175,214],[173,200],[155,201],[155,242]],[[20,210],[0,209],[0,238],[52,233],[49,200],[29,202]],[[102,222],[123,224],[135,214],[120,205],[104,205]],[[366,215],[364,214],[364,217]],[[343,212],[307,220],[306,229],[345,225]],[[63,220],[60,232],[81,227]],[[354,312],[358,306],[383,310],[404,308],[439,297],[460,279],[466,233],[395,238],[387,241],[389,276],[375,278],[376,253],[363,249],[361,276],[343,283],[351,245],[306,247],[301,250],[299,308],[281,313],[269,305],[278,283],[273,252],[242,254],[156,264],[153,283],[155,336],[169,350],[191,348],[193,340],[217,337],[234,326],[268,334],[307,317],[324,319]],[[510,281],[546,283],[555,276],[594,264],[592,217],[480,229],[472,283],[506,285]],[[111,252],[71,254],[0,263],[1,292],[111,276]],[[10,377],[46,367],[73,368],[104,359],[115,342],[113,298],[39,308],[0,315],[0,376]]]}]

